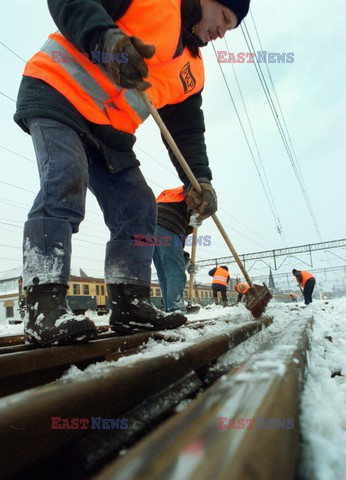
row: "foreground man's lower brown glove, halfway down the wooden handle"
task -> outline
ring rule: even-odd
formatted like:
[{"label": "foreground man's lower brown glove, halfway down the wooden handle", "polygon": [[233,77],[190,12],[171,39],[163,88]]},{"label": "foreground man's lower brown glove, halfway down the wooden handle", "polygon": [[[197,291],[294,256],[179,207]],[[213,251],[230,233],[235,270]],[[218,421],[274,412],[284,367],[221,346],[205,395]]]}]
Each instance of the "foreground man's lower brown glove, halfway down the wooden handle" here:
[{"label": "foreground man's lower brown glove, halfway down the wooden handle", "polygon": [[190,212],[198,212],[198,220],[202,221],[210,217],[217,210],[217,197],[210,180],[197,178],[202,193],[198,193],[192,185],[184,193],[184,199]]}]

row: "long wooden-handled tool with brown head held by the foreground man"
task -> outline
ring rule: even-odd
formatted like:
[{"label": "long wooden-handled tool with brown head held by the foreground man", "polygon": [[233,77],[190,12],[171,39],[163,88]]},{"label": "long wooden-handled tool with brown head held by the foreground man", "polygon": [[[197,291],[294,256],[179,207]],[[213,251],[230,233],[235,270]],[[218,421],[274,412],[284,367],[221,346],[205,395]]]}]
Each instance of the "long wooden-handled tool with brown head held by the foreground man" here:
[{"label": "long wooden-handled tool with brown head held by the foreground man", "polygon": [[[172,149],[176,159],[180,163],[181,168],[184,170],[185,174],[187,175],[188,179],[190,180],[191,185],[193,186],[193,188],[197,192],[201,193],[202,189],[201,189],[199,183],[197,182],[196,177],[192,173],[192,170],[190,169],[190,167],[187,164],[185,158],[181,154],[178,146],[176,145],[172,135],[169,133],[169,131],[168,131],[166,125],[164,124],[163,120],[161,119],[158,111],[156,110],[154,105],[151,103],[147,93],[144,92],[144,91],[138,91],[138,93],[141,96],[143,102],[145,103],[145,106],[147,107],[148,111],[152,115],[153,119],[155,120],[156,124],[158,125],[158,127],[159,127],[162,135],[166,139],[168,145]],[[240,268],[240,271],[244,275],[244,278],[246,279],[246,281],[247,281],[247,283],[250,287],[249,290],[247,291],[247,293],[245,294],[245,296],[246,296],[246,304],[245,304],[246,308],[251,311],[252,315],[255,318],[259,318],[265,312],[265,309],[266,309],[270,299],[273,296],[272,296],[268,287],[265,284],[256,285],[256,284],[253,284],[251,282],[250,277],[249,277],[247,271],[245,270],[244,265],[242,264],[235,248],[233,247],[232,242],[228,238],[228,235],[225,232],[223,226],[221,225],[221,222],[218,219],[216,213],[213,213],[213,215],[211,217],[214,220],[215,225],[219,229],[223,239],[225,240],[228,248],[230,249],[230,251],[231,251],[231,253],[234,257],[234,260],[236,261],[238,267]]]}]

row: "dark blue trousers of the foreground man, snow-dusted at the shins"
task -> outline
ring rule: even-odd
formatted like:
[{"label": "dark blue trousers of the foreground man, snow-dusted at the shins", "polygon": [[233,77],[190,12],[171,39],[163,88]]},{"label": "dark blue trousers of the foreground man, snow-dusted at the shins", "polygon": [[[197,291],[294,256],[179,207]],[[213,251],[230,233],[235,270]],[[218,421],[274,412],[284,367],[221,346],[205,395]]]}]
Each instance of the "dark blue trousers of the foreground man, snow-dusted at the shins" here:
[{"label": "dark blue trousers of the foreground man, snow-dusted at the shins", "polygon": [[156,201],[140,169],[112,174],[102,159],[89,158],[70,127],[48,118],[28,124],[41,188],[24,225],[24,286],[68,285],[71,236],[84,218],[88,186],[110,231],[106,282],[150,286],[153,247],[136,247],[135,235],[154,235]]}]

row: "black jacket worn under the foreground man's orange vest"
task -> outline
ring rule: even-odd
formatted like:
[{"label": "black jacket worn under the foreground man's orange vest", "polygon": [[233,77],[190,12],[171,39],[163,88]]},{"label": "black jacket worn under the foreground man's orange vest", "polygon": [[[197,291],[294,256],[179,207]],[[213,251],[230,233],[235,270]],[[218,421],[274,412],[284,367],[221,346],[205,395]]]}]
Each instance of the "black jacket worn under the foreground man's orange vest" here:
[{"label": "black jacket worn under the foreground man's orange vest", "polygon": [[[114,24],[122,17],[132,0],[48,0],[48,7],[60,32],[83,53],[100,50],[106,31],[117,28]],[[196,0],[183,0],[184,4]],[[195,6],[193,8],[195,11]],[[184,22],[186,25],[186,21]],[[185,30],[186,34],[186,30]],[[186,35],[177,46],[181,51]],[[191,35],[190,35],[190,38]],[[204,141],[204,116],[201,110],[202,97],[197,93],[180,104],[167,105],[159,110],[191,170],[197,178],[212,175]],[[47,83],[32,77],[23,77],[17,99],[14,120],[29,133],[26,119],[48,117],[58,120],[76,130],[90,158],[102,158],[111,166],[112,173],[133,166],[139,161],[133,152],[136,137],[115,130],[108,125],[97,125],[86,120],[74,106]],[[167,145],[166,145],[167,147]],[[167,147],[168,148],[168,147]],[[171,160],[185,185],[189,184],[174,154],[168,148]]]}]

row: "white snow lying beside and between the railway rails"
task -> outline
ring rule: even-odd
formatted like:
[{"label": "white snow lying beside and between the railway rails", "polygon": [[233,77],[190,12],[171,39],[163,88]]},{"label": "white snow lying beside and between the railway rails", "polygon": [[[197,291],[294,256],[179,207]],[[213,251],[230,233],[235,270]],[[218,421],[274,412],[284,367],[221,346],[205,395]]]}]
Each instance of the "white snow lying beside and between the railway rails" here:
[{"label": "white snow lying beside and between the railway rails", "polygon": [[[284,332],[301,317],[314,318],[312,348],[310,353],[307,381],[302,397],[301,428],[303,436],[302,472],[304,479],[342,480],[346,471],[346,298],[314,301],[306,308],[302,304],[276,303],[273,300],[267,308],[267,315],[274,316],[273,324],[250,338],[245,344],[232,349],[220,358],[219,363],[233,365],[246,360],[266,341]],[[98,325],[107,323],[107,316],[93,315]],[[124,357],[118,365],[137,358],[152,357],[171,353],[192,344],[202,335],[220,333],[229,323],[223,318],[232,319],[240,325],[251,320],[244,305],[211,309],[201,309],[198,314],[190,315],[189,321],[218,318],[216,325],[208,325],[203,330],[181,327],[180,342],[148,342],[137,355]],[[174,331],[173,331],[174,332]],[[23,333],[22,325],[0,325],[0,335],[18,335]],[[113,363],[113,362],[112,362]],[[109,364],[108,364],[109,366]],[[92,365],[84,372],[71,367],[63,381],[80,378],[84,375],[98,375],[107,368],[104,363]]]}]

